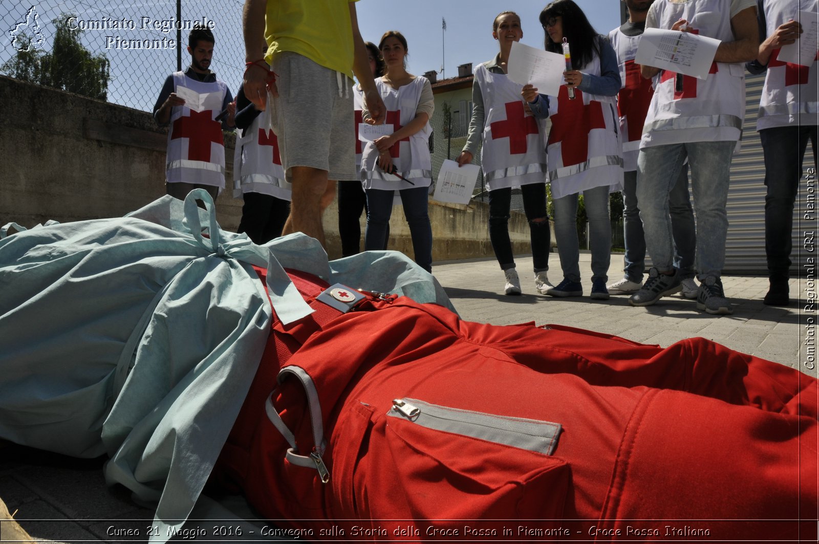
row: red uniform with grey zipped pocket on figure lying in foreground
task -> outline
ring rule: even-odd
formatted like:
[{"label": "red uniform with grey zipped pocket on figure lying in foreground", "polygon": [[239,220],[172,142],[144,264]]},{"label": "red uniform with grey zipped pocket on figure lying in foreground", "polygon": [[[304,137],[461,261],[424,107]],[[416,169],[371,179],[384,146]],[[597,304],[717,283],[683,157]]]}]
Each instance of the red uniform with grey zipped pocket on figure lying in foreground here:
[{"label": "red uniform with grey zipped pocket on figure lying in foreground", "polygon": [[274,323],[214,474],[278,527],[816,539],[817,380],[703,338],[470,323],[290,272],[317,311]]}]

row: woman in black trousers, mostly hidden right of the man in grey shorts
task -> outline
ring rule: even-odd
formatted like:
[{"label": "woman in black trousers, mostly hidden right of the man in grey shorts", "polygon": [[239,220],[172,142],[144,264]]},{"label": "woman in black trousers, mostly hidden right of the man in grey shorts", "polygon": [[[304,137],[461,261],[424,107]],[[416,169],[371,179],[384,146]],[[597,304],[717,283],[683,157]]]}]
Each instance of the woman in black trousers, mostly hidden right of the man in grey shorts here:
[{"label": "woman in black trousers, mostly hidden right of the man in grey shorts", "polygon": [[[369,69],[373,77],[384,74],[384,59],[378,46],[372,42],[365,42]],[[355,107],[355,170],[361,170],[361,152],[363,145],[358,139],[359,124],[362,122],[361,105],[364,103],[364,92],[360,85],[353,86],[353,107]],[[342,256],[355,255],[360,251],[361,227],[359,220],[361,212],[367,209],[367,195],[361,186],[361,179],[338,182],[338,235],[342,238]],[[387,238],[389,236],[387,235]],[[382,249],[386,249],[385,243]]]}]

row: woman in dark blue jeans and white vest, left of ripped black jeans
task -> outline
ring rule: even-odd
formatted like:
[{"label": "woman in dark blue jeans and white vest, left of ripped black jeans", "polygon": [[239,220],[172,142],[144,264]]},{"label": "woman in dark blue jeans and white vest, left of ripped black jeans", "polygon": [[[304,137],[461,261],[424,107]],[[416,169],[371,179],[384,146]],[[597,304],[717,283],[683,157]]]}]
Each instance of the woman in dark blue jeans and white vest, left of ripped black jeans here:
[{"label": "woman in dark blue jeans and white vest, left of ripped black jeans", "polygon": [[[415,253],[415,262],[432,271],[432,225],[427,213],[429,185],[432,184],[432,161],[428,139],[432,128],[429,119],[435,111],[432,85],[423,76],[406,70],[407,41],[389,30],[378,43],[387,73],[375,80],[384,106],[386,125],[393,132],[367,143],[361,157],[364,190],[367,193],[367,230],[364,248],[383,249],[392,213],[392,197],[400,191],[404,215]],[[369,111],[363,107],[364,120]]]}]

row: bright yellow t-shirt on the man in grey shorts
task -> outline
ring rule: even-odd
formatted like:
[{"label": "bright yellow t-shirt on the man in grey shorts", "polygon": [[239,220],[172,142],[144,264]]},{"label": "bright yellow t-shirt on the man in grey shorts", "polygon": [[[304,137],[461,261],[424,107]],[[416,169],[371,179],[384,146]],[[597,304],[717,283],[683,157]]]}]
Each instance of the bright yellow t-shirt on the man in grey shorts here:
[{"label": "bright yellow t-shirt on the man in grey shorts", "polygon": [[350,2],[358,0],[280,0],[267,2],[265,60],[283,51],[353,76],[353,29]]}]

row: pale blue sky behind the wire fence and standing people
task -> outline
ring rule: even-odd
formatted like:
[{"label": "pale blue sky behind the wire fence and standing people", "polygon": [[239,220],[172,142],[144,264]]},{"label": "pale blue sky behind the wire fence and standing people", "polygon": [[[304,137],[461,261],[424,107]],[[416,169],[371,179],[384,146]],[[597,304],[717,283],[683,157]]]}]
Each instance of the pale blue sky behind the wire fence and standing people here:
[{"label": "pale blue sky behind the wire fence and standing people", "polygon": [[[310,0],[306,0],[310,1]],[[242,42],[243,0],[183,0],[182,19],[206,16],[214,21],[216,39],[212,70],[228,84],[233,93],[242,82],[244,45]],[[408,70],[422,75],[428,70],[445,72],[438,79],[455,77],[458,66],[488,61],[498,52],[492,39],[492,21],[500,11],[516,11],[523,26],[523,43],[543,47],[543,29],[538,15],[547,2],[534,0],[360,0],[356,3],[359,28],[365,40],[378,43],[391,29],[400,30],[409,44]],[[577,0],[591,24],[600,34],[620,24],[620,0]],[[88,0],[3,0],[0,3],[0,65],[16,54],[10,31],[25,21],[34,7],[38,27],[45,38],[43,49],[51,51],[54,35],[52,19],[74,13],[80,21],[129,20],[134,29],[87,29],[84,46],[94,54],[105,54],[111,61],[108,100],[123,106],[150,111],[165,77],[176,70],[176,51],[170,49],[129,50],[117,47],[114,39],[175,39],[175,30],[162,32],[156,24],[143,27],[143,17],[169,20],[176,15],[176,2],[88,2]],[[446,32],[441,31],[446,19]],[[183,31],[183,39],[187,39]],[[110,38],[109,38],[110,37]],[[187,45],[187,43],[183,44]],[[183,66],[190,57],[183,51]]]}]

